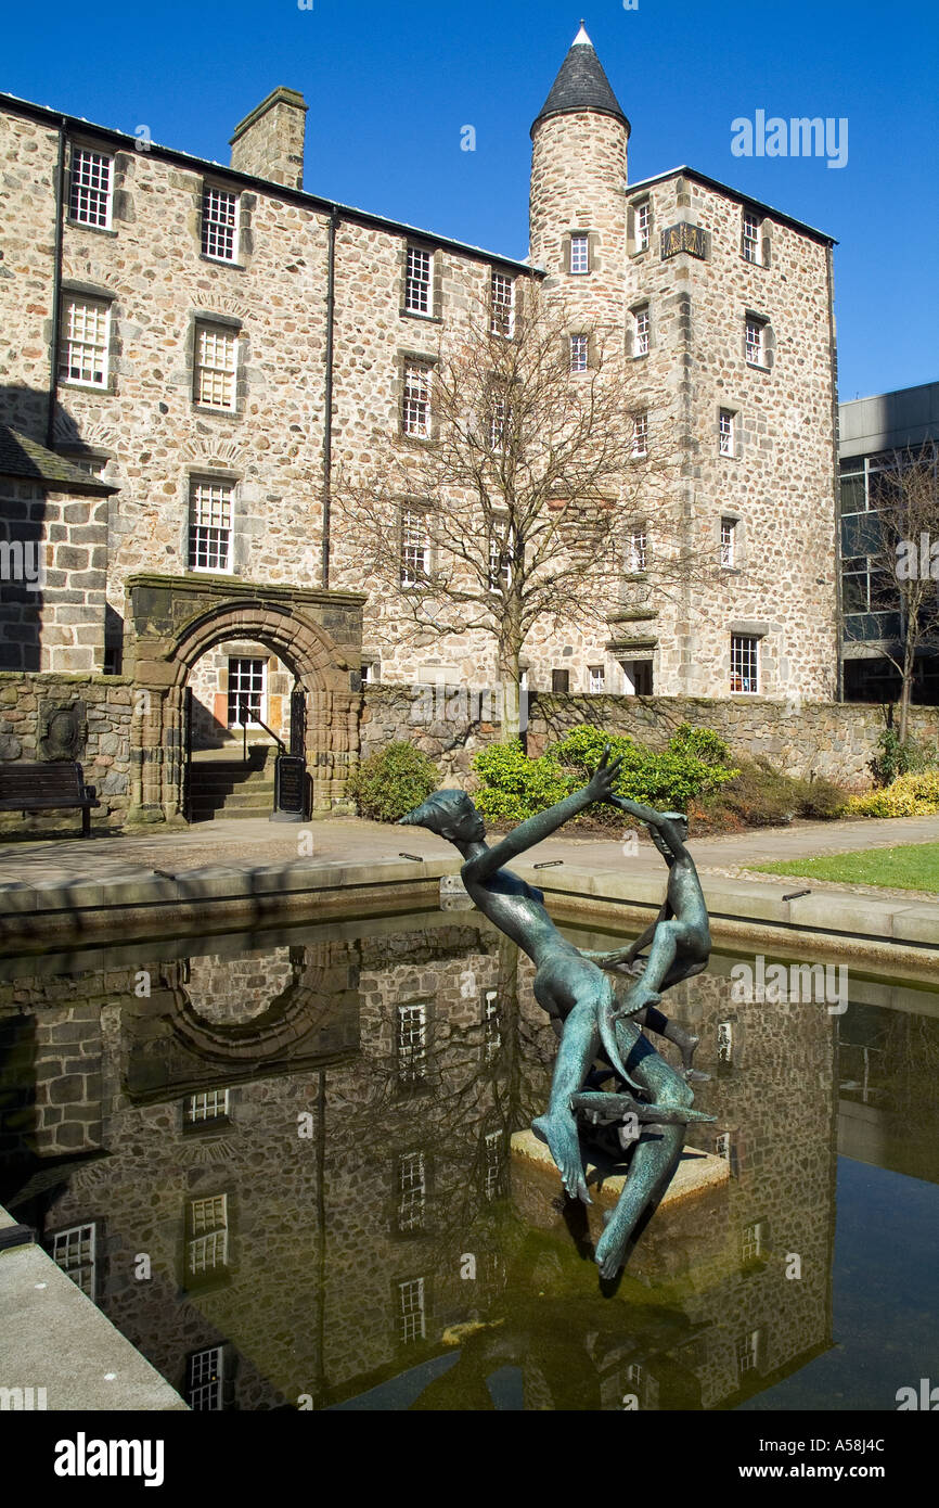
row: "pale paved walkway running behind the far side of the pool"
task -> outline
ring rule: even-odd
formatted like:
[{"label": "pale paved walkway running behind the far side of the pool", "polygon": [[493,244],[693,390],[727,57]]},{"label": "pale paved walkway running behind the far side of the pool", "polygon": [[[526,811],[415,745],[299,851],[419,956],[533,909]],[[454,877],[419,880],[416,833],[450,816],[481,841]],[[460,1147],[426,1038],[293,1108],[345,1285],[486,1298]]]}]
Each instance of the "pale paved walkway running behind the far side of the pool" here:
[{"label": "pale paved walkway running behind the far side of the pool", "polygon": [[[312,835],[300,847],[301,835]],[[897,843],[939,843],[937,817],[897,817],[894,820],[799,822],[787,828],[692,840],[701,870],[746,869],[776,860],[820,854],[847,854],[892,847]],[[351,817],[333,817],[295,828],[265,820],[203,822],[179,831],[143,832],[133,837],[56,838],[0,843],[0,885],[74,884],[77,879],[110,881],[151,875],[154,870],[181,875],[191,869],[216,866],[261,869],[289,864],[298,857],[320,863],[368,864],[396,858],[401,852],[418,858],[452,858],[449,843],[421,828],[396,828]],[[597,869],[636,866],[662,870],[662,860],[648,841],[638,854],[622,852],[622,840],[597,837],[553,837],[526,855],[529,863],[567,861]]]}]

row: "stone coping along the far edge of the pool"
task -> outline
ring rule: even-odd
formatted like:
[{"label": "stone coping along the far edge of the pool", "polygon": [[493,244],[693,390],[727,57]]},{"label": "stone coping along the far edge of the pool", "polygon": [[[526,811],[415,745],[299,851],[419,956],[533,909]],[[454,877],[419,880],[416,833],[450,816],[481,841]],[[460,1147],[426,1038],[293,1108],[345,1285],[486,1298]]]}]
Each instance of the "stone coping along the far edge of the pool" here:
[{"label": "stone coping along the far edge of the pool", "polygon": [[[205,869],[134,870],[98,879],[62,878],[0,885],[0,942],[36,941],[69,930],[101,936],[116,927],[206,923],[241,923],[277,909],[298,911],[315,921],[338,906],[386,905],[390,909],[427,905],[445,875],[460,869],[457,857],[389,858],[366,863],[317,858],[250,867],[214,864]],[[564,909],[597,917],[610,912],[616,923],[645,924],[659,911],[665,893],[660,867],[633,863],[629,869],[592,869],[568,864],[547,869],[518,864],[517,873]],[[832,890],[811,891],[811,882],[788,878],[779,884],[746,882],[702,873],[714,939],[782,942],[784,938],[827,942],[867,955],[874,967],[885,961],[921,965],[939,962],[939,902],[876,899]],[[809,894],[787,900],[799,890]],[[206,906],[210,911],[206,912]]]}]

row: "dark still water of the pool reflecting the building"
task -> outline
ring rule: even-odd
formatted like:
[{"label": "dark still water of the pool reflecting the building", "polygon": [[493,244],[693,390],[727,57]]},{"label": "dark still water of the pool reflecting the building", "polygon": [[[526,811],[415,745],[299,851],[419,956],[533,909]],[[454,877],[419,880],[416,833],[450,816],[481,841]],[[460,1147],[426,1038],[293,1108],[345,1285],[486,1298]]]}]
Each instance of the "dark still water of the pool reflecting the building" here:
[{"label": "dark still water of the pool reflecting the building", "polygon": [[476,912],[0,959],[0,1203],[200,1410],[892,1410],[939,1351],[939,992],[736,962],[669,992],[731,1176],[612,1289],[511,1154],[556,1041]]}]

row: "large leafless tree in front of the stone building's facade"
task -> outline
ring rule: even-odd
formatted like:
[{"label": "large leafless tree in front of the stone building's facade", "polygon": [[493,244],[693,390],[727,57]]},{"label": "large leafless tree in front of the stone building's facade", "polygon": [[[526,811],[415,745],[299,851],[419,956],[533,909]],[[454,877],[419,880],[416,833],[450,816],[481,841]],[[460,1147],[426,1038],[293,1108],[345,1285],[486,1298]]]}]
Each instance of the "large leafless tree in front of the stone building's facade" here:
[{"label": "large leafless tree in front of the stone building's facade", "polygon": [[470,308],[405,369],[401,433],[338,480],[347,558],[399,636],[493,641],[503,737],[535,626],[604,623],[630,573],[687,579],[668,400],[622,347],[535,284]]}]

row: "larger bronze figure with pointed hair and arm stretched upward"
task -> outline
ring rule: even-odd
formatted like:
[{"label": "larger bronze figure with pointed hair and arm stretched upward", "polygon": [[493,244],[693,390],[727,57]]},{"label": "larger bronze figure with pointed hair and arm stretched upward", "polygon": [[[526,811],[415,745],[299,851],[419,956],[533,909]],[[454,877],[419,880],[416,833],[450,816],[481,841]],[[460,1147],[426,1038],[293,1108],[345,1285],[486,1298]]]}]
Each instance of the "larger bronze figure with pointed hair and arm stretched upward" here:
[{"label": "larger bronze figure with pointed hair and arm stretched upward", "polygon": [[[635,1148],[625,1188],[597,1244],[595,1256],[604,1277],[616,1274],[644,1209],[657,1200],[671,1182],[681,1155],[687,1122],[711,1117],[690,1108],[693,1093],[686,1078],[656,1053],[639,1027],[629,1019],[632,1015],[629,997],[622,1009],[616,1006],[609,973],[561,935],[544,908],[543,891],[528,885],[518,875],[505,869],[505,864],[544,841],[594,802],[621,804],[621,798],[613,798],[612,792],[619,765],[619,760],[609,763],[607,748],[583,790],[529,817],[491,849],[485,843],[482,817],[463,790],[439,790],[401,819],[402,825],[424,826],[437,832],[460,851],[464,860],[463,882],[473,902],[494,926],[528,953],[535,964],[534,989],[538,1004],[547,1010],[553,1022],[564,1022],[547,1114],[540,1116],[532,1128],[547,1142],[571,1197],[591,1202],[571,1095],[583,1086],[600,1050],[601,1033],[613,1047],[610,1060],[616,1071],[639,1093],[648,1095],[648,1101],[607,1096],[619,1099],[621,1104],[629,1099],[629,1110],[647,1123],[647,1131]],[[653,813],[653,816],[660,814]],[[619,958],[621,955],[604,956],[604,967],[616,967],[613,961]],[[653,995],[657,998],[651,982],[641,992],[642,1001],[636,1004],[636,1010],[648,1009]]]}]

